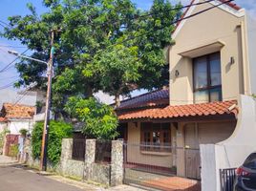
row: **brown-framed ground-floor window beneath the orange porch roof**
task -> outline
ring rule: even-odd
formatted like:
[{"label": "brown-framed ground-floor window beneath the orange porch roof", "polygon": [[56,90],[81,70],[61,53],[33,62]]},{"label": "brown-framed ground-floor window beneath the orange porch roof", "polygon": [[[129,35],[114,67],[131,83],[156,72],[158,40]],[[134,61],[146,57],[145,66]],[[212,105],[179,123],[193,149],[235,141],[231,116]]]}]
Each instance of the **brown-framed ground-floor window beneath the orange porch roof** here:
[{"label": "brown-framed ground-floor window beneath the orange porch roof", "polygon": [[141,123],[141,150],[171,152],[170,123]]}]

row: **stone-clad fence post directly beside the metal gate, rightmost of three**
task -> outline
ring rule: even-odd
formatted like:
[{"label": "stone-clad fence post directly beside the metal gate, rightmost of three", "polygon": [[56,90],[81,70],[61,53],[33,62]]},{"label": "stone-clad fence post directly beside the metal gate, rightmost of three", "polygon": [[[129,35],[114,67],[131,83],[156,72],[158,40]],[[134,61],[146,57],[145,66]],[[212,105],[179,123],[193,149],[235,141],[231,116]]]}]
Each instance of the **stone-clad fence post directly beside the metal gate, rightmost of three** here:
[{"label": "stone-clad fence post directly beside the metal gate, rightmost of three", "polygon": [[123,141],[113,140],[111,150],[111,180],[110,185],[122,184],[123,180]]}]

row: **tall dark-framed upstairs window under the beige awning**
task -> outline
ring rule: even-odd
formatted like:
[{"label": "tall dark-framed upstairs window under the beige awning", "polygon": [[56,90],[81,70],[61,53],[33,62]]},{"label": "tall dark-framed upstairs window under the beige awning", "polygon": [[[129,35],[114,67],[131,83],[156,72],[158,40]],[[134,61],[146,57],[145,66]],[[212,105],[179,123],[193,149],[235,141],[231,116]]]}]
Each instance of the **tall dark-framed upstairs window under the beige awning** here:
[{"label": "tall dark-framed upstairs window under the beige awning", "polygon": [[193,64],[195,103],[222,100],[220,53],[194,58]]}]

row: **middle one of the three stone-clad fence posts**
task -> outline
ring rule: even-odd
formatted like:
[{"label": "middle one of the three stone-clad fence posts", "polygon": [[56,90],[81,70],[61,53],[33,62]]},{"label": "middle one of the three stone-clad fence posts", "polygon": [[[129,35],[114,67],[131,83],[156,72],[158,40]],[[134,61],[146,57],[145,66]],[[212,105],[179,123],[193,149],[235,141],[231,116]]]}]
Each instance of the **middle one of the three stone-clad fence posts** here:
[{"label": "middle one of the three stone-clad fence posts", "polygon": [[85,158],[84,158],[84,179],[90,180],[93,167],[92,164],[96,160],[96,139],[86,139]]}]

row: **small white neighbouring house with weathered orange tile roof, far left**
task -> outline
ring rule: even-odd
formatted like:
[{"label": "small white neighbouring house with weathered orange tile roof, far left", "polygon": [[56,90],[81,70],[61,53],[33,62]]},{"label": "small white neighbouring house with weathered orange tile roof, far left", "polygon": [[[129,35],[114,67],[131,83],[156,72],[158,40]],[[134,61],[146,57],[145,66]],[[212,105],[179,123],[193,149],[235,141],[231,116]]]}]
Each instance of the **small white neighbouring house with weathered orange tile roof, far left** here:
[{"label": "small white neighbouring house with weathered orange tile roof, far left", "polygon": [[32,106],[4,103],[1,110],[1,118],[11,135],[19,135],[21,129],[32,130],[32,117],[35,108]]}]

